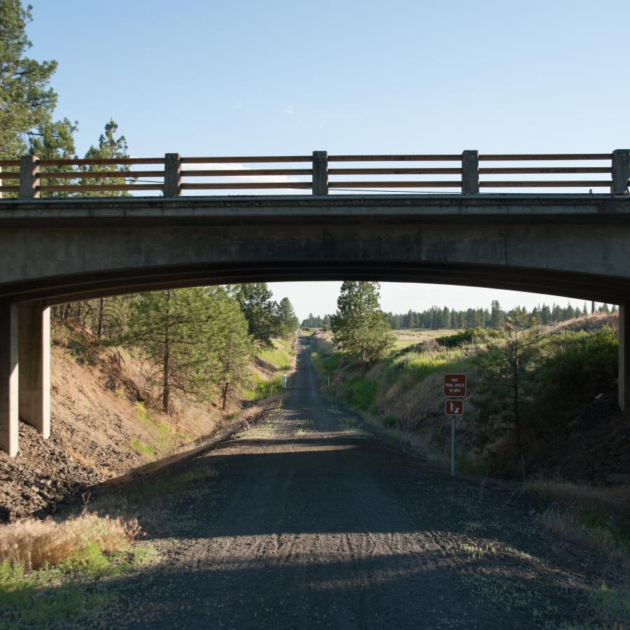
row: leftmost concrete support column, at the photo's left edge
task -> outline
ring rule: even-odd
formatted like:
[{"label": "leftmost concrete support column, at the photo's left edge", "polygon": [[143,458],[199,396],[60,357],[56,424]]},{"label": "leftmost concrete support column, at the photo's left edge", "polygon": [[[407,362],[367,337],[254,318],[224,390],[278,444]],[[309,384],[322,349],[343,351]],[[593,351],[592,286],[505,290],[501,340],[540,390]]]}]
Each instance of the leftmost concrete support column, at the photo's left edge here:
[{"label": "leftmost concrete support column, at the photo's left edge", "polygon": [[0,300],[0,449],[18,454],[18,307]]}]

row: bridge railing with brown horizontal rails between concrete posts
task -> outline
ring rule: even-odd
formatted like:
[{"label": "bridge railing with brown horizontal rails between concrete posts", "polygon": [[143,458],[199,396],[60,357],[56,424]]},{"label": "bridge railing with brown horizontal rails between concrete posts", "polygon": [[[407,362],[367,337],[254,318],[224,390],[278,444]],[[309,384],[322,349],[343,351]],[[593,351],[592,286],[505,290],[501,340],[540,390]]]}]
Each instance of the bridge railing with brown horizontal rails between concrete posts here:
[{"label": "bridge railing with brown horizontal rails between concrete posts", "polygon": [[[365,162],[376,166],[363,166]],[[409,162],[416,164],[409,165]],[[451,164],[436,166],[438,162]],[[505,165],[505,162],[512,164]],[[561,165],[558,165],[559,162]],[[591,166],[592,162],[596,165]],[[346,167],[349,163],[354,165]],[[391,166],[392,163],[398,164]],[[276,164],[304,164],[304,168],[277,168],[274,167]],[[144,165],[159,165],[159,168],[132,168]],[[608,177],[575,178],[576,175],[586,174]],[[501,179],[507,175],[526,177]],[[559,175],[570,175],[573,179],[559,179]],[[399,176],[414,176],[414,179],[400,179]],[[417,176],[431,177],[420,179]],[[494,177],[486,179],[486,176]],[[534,176],[535,179],[530,179]],[[214,181],[195,181],[197,178]],[[251,178],[258,179],[248,181]],[[627,194],[629,180],[629,149],[617,149],[612,153],[481,155],[477,151],[444,155],[328,155],[325,151],[314,151],[312,155],[200,158],[166,153],[163,158],[113,160],[39,160],[33,155],[26,155],[20,160],[0,160],[0,197],[3,193],[10,193],[10,197],[23,199],[38,198],[41,193],[81,197],[85,193],[94,196],[94,193],[101,192],[111,196],[111,193],[123,191],[153,190],[162,192],[166,197],[178,197],[186,190],[284,188],[311,190],[314,195],[328,195],[330,190],[367,192],[385,188],[397,192],[401,189],[419,192],[427,188],[455,190],[472,195],[482,189],[496,188],[605,188],[612,195],[624,195]]]}]

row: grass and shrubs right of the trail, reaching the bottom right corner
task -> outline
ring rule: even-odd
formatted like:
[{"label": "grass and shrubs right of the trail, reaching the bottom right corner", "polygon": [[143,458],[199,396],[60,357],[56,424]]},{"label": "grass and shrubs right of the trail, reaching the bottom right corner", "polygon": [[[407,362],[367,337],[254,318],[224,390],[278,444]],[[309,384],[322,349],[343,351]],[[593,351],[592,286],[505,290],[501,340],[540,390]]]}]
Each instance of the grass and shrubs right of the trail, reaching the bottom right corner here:
[{"label": "grass and shrubs right of the trail, reaching the bottom right corner", "polygon": [[[365,360],[340,343],[342,321],[352,328],[357,319],[339,309],[330,332],[322,327],[309,337],[311,357],[329,395],[405,449],[443,465],[450,422],[442,374],[468,374],[458,470],[524,480],[524,491],[540,502],[538,525],[600,566],[601,579],[588,594],[598,623],[624,627],[630,623],[630,430],[616,402],[615,309],[589,316],[572,308],[566,314],[579,311],[577,318],[563,321],[561,309],[544,307],[548,325],[540,324],[543,309],[534,310],[503,312],[493,302],[487,317],[477,318],[484,325],[444,330],[439,309],[432,309],[435,330],[396,330],[393,343]],[[360,332],[357,325],[345,338]]]}]

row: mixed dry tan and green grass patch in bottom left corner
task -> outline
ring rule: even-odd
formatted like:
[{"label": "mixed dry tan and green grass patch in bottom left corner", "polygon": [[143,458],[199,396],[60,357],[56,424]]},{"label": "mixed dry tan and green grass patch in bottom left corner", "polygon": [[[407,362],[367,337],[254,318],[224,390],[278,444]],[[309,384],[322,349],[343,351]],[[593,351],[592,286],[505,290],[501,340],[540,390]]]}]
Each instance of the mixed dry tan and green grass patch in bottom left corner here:
[{"label": "mixed dry tan and green grass patch in bottom left corner", "polygon": [[151,545],[134,542],[139,535],[135,520],[89,512],[0,528],[3,627],[47,628],[98,615],[116,598],[113,578],[155,560]]}]

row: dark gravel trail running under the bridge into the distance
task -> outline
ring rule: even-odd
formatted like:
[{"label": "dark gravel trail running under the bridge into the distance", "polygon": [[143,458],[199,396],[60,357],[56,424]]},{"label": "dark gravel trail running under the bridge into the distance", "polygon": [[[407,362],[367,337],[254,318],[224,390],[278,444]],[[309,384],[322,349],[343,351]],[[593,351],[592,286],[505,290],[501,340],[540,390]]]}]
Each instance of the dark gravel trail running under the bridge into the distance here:
[{"label": "dark gravel trail running under the bridge into the distance", "polygon": [[222,496],[177,498],[178,525],[153,541],[162,561],[120,580],[103,627],[503,630],[585,618],[583,559],[533,524],[522,496],[346,428],[351,414],[321,398],[308,352],[302,340],[272,424],[197,458],[219,472]]}]

